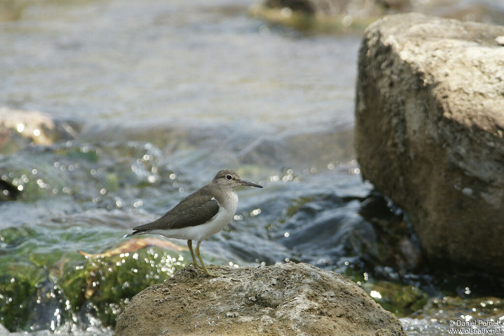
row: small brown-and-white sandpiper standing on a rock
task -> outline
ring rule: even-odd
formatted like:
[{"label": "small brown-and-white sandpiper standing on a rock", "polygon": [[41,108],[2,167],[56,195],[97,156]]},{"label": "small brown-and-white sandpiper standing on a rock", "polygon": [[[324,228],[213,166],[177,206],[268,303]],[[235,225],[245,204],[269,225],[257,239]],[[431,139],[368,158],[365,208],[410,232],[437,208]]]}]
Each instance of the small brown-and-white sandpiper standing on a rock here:
[{"label": "small brown-and-white sandpiper standing on a rock", "polygon": [[[238,173],[231,169],[220,170],[211,183],[193,192],[180,201],[173,209],[154,222],[133,228],[133,233],[126,237],[140,234],[159,234],[167,238],[187,239],[187,247],[193,257],[193,265],[204,274],[218,277],[220,274],[208,272],[200,255],[200,244],[205,238],[222,230],[234,217],[238,207],[236,187],[248,185],[262,188],[262,185],[243,181]],[[193,250],[196,240],[196,261]]]}]

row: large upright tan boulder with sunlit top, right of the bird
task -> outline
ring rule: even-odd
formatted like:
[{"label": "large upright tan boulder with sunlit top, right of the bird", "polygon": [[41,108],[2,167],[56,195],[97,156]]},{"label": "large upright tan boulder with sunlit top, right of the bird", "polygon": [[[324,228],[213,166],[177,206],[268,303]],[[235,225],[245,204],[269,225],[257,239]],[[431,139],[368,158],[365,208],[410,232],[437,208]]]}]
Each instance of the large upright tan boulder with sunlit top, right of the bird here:
[{"label": "large upright tan boulder with sunlit top, right of the bird", "polygon": [[363,177],[406,210],[431,261],[462,270],[504,271],[502,35],[397,15],[366,30],[359,54]]}]

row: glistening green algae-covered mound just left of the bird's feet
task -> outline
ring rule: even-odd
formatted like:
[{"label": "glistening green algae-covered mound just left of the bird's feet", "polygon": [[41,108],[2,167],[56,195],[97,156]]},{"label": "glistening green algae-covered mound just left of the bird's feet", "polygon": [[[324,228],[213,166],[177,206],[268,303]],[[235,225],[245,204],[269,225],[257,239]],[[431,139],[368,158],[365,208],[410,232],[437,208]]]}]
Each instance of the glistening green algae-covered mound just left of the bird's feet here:
[{"label": "glistening green algae-covered mound just left of the bird's feet", "polygon": [[[173,255],[173,256],[172,256]],[[164,281],[182,267],[179,254],[159,248],[142,249],[105,258],[88,258],[70,267],[57,286],[76,312],[91,303],[104,325],[115,325],[129,299],[144,288]],[[82,258],[82,256],[81,256]]]}]

